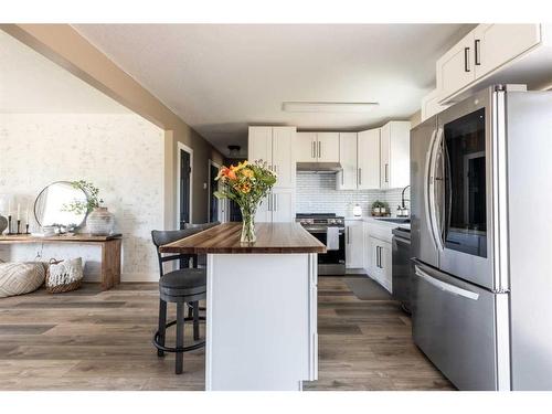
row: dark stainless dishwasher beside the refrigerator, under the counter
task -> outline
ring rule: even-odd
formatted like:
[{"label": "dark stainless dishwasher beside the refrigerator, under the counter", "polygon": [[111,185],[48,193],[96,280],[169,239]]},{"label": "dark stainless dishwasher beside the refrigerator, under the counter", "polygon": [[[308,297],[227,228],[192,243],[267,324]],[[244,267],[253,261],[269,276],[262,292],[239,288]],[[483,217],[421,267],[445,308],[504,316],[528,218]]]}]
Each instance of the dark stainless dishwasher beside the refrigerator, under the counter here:
[{"label": "dark stainless dishwasher beside the refrigerator, under the counter", "polygon": [[397,227],[393,230],[393,297],[401,307],[411,314],[411,230]]}]

